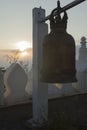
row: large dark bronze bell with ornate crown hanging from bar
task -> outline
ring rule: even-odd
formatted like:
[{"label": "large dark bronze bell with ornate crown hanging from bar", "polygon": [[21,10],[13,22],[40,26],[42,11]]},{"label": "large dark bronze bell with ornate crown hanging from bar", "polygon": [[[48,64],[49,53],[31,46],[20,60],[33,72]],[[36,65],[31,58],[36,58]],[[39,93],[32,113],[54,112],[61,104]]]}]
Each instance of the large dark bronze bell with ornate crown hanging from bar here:
[{"label": "large dark bronze bell with ornate crown hanging from bar", "polygon": [[75,41],[66,32],[67,13],[50,16],[51,32],[45,36],[42,47],[41,81],[47,83],[76,82]]}]

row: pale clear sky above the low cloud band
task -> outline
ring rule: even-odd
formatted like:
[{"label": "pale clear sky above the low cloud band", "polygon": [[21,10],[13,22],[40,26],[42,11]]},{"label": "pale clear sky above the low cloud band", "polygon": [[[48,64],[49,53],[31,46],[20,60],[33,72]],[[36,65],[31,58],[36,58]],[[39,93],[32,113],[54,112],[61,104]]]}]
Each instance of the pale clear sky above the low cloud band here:
[{"label": "pale clear sky above the low cloud band", "polygon": [[[61,7],[71,2],[60,0]],[[32,44],[32,9],[40,6],[47,16],[56,8],[57,0],[0,0],[0,49],[15,49],[20,41]],[[67,32],[80,44],[81,37],[87,37],[87,1],[67,13]]]}]

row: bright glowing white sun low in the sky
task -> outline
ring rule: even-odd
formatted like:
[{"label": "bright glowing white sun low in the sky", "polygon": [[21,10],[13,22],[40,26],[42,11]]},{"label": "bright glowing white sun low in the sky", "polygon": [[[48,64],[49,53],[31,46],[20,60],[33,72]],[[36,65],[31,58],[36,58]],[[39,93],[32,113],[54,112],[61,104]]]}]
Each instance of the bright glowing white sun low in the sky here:
[{"label": "bright glowing white sun low in the sky", "polygon": [[24,52],[31,47],[31,43],[28,41],[19,41],[16,43],[16,47],[19,51]]}]

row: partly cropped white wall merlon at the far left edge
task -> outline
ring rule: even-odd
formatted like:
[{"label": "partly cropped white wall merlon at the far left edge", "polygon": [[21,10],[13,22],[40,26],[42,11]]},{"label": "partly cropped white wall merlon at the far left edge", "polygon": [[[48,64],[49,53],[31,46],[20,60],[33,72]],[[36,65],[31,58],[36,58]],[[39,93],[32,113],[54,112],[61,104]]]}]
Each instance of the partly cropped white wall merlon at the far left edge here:
[{"label": "partly cropped white wall merlon at the far left edge", "polygon": [[4,105],[4,79],[3,79],[3,72],[0,69],[0,106]]}]

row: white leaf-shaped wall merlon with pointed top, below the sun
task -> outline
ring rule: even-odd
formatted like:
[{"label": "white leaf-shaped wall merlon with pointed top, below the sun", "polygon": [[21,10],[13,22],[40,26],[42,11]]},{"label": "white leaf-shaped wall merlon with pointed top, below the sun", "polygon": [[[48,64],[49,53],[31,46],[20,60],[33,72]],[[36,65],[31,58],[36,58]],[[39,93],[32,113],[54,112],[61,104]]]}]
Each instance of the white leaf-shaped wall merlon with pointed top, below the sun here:
[{"label": "white leaf-shaped wall merlon with pointed top, below the sun", "polygon": [[18,63],[13,63],[7,69],[4,75],[5,87],[8,89],[5,100],[7,105],[23,103],[28,100],[25,91],[27,80],[24,69]]}]

